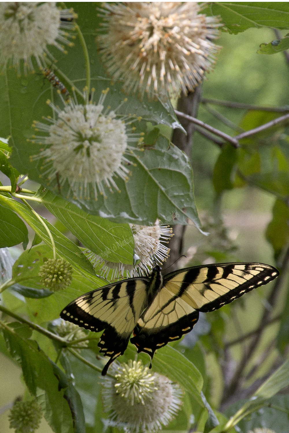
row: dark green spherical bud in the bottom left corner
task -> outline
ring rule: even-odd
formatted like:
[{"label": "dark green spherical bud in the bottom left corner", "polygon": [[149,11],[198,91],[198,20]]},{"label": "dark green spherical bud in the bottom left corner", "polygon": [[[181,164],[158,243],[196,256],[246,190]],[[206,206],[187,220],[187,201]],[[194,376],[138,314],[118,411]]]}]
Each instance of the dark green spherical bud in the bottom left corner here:
[{"label": "dark green spherical bud in the bottom left corner", "polygon": [[40,426],[42,409],[35,401],[15,401],[10,409],[10,429],[15,433],[33,433]]}]

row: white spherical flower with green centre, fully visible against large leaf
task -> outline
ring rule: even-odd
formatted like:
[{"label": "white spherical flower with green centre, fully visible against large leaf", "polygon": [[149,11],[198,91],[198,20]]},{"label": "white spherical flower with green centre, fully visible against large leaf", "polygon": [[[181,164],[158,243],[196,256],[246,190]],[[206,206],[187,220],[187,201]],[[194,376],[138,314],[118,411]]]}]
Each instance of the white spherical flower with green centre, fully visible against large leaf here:
[{"label": "white spherical flower with green centre, fully visible against large leaf", "polygon": [[60,94],[63,110],[47,101],[55,113],[55,119],[45,118],[51,124],[33,123],[36,131],[48,132],[49,135],[33,136],[33,140],[28,141],[49,147],[31,159],[44,158],[41,169],[46,168],[46,171],[41,176],[46,176],[48,183],[51,179],[57,179],[59,187],[68,181],[68,195],[73,191],[75,198],[89,200],[94,192],[97,200],[98,191],[106,197],[105,186],[111,192],[112,187],[119,191],[113,176],[128,180],[130,171],[123,163],[132,163],[124,157],[124,153],[127,149],[135,149],[130,148],[128,142],[141,143],[143,140],[141,134],[134,133],[134,126],[127,129],[136,120],[135,116],[117,119],[116,111],[127,101],[126,98],[116,110],[109,111],[110,107],[104,110],[103,102],[108,91],[102,91],[97,104],[93,103],[94,89],[90,98],[85,90],[84,104],[77,102],[75,93],[74,99],[71,98],[68,103]]}]

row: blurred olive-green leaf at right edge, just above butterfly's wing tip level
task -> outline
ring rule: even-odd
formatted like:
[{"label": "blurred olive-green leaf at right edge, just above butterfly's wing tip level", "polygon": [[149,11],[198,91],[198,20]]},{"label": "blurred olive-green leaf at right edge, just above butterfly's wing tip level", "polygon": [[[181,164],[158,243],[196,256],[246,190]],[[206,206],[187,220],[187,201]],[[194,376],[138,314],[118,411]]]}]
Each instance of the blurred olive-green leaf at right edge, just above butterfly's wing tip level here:
[{"label": "blurred olive-green leaf at right edge, just above butterfly's wing tip level", "polygon": [[272,214],[273,218],[266,229],[266,239],[273,246],[274,257],[277,259],[289,241],[289,207],[283,200],[276,199]]}]

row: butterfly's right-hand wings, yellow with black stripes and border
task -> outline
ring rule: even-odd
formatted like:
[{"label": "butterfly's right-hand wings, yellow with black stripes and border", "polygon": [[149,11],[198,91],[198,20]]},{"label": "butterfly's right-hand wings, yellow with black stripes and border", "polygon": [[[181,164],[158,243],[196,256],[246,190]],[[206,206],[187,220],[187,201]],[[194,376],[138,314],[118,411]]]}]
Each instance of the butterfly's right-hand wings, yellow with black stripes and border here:
[{"label": "butterfly's right-hand wings, yellow with black stripes and border", "polygon": [[171,272],[141,314],[131,342],[152,359],[157,349],[193,329],[199,311],[217,310],[278,275],[277,269],[260,263],[221,263]]}]

